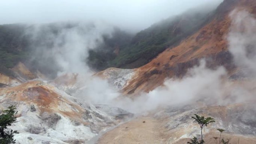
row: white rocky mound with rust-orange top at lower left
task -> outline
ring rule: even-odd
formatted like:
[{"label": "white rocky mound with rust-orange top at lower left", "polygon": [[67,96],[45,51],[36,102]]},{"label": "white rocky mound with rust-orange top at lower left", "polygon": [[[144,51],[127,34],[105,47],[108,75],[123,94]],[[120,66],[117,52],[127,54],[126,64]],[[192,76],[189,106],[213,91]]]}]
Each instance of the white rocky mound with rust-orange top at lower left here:
[{"label": "white rocky mound with rust-orange top at lower left", "polygon": [[11,128],[21,144],[85,143],[116,125],[115,116],[41,81],[1,88],[0,97],[1,110],[10,105],[18,110]]}]

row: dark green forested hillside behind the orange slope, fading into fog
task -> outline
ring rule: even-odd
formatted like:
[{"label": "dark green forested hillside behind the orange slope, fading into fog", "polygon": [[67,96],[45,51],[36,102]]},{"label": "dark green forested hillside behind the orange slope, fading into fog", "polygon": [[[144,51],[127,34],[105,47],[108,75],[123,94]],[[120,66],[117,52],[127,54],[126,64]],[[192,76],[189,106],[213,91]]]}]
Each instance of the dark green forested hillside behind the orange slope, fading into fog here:
[{"label": "dark green forested hillside behind the orange slope, fading into fog", "polygon": [[[90,52],[88,64],[97,70],[108,67],[140,67],[147,64],[165,49],[179,45],[182,40],[205,25],[211,16],[207,12],[187,12],[158,22],[140,31],[131,40],[129,40],[130,37],[124,37],[123,41],[120,41],[120,39],[116,39],[119,37],[114,36],[110,40],[119,43],[120,52],[118,55],[113,53],[114,45],[105,45],[105,51],[100,49]],[[128,35],[123,32],[123,36]],[[109,51],[106,52],[106,50]]]}]

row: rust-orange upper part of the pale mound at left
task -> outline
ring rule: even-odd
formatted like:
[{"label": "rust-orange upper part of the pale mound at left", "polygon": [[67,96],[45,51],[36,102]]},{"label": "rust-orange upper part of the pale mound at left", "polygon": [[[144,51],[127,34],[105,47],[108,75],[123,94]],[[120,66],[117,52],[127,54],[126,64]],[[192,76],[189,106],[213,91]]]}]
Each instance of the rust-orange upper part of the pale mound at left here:
[{"label": "rust-orange upper part of the pale mound at left", "polygon": [[89,113],[74,98],[41,81],[26,82],[18,86],[0,88],[0,103],[6,101],[34,104],[43,113],[59,113],[72,120],[88,125],[83,115]]}]

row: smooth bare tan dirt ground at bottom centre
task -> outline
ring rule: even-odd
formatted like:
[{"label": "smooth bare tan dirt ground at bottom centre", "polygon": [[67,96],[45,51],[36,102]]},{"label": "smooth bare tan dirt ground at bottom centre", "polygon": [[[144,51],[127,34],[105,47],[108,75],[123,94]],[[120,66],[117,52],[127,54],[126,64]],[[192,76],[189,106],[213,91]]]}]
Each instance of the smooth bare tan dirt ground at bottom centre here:
[{"label": "smooth bare tan dirt ground at bottom centre", "polygon": [[139,117],[102,135],[97,144],[164,144],[160,131],[157,120]]}]

